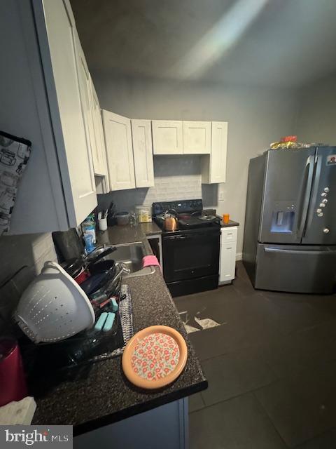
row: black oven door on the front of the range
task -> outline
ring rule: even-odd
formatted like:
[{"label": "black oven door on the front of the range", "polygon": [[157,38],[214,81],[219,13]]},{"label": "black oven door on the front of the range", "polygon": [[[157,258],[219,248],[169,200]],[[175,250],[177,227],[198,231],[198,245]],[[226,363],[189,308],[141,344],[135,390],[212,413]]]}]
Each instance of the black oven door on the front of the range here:
[{"label": "black oven door on the front of the range", "polygon": [[163,236],[163,274],[167,283],[218,275],[220,229],[193,229]]}]

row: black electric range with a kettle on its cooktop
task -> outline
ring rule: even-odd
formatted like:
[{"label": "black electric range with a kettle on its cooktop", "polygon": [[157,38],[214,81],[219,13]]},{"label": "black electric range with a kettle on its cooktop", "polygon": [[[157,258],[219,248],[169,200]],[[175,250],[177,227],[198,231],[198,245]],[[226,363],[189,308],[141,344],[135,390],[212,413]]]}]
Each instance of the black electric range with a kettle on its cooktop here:
[{"label": "black electric range with a kettle on its cooktop", "polygon": [[[164,215],[176,215],[178,229],[165,231]],[[218,288],[220,220],[203,210],[202,199],[153,203],[161,227],[163,275],[172,296]]]}]

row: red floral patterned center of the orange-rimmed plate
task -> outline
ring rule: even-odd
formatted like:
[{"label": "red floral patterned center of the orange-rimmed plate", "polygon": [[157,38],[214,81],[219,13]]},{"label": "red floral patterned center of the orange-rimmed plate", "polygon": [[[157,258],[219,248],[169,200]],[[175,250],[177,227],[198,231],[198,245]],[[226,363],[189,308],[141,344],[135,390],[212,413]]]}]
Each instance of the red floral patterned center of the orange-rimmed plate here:
[{"label": "red floral patterned center of the orange-rimmed plate", "polygon": [[159,380],[176,368],[179,345],[173,337],[162,333],[146,335],[137,342],[131,359],[134,373],[146,380]]}]

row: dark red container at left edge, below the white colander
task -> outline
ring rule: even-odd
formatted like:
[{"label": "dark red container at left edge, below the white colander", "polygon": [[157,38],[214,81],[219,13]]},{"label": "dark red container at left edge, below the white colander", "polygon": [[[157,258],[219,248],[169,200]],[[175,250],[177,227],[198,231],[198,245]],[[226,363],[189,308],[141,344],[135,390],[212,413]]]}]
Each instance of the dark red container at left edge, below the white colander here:
[{"label": "dark red container at left edge, below the white colander", "polygon": [[18,342],[3,337],[0,339],[0,406],[25,396],[27,385]]}]

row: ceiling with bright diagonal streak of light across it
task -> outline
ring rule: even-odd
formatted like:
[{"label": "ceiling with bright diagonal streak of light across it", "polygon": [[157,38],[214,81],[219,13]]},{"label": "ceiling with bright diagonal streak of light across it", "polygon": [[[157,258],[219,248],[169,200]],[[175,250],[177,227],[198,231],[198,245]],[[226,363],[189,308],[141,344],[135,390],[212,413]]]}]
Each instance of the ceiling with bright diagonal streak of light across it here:
[{"label": "ceiling with bright diagonal streak of light across it", "polygon": [[336,0],[71,0],[92,72],[297,87],[336,72]]}]

